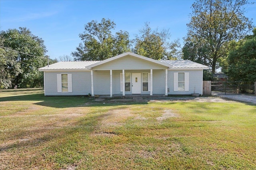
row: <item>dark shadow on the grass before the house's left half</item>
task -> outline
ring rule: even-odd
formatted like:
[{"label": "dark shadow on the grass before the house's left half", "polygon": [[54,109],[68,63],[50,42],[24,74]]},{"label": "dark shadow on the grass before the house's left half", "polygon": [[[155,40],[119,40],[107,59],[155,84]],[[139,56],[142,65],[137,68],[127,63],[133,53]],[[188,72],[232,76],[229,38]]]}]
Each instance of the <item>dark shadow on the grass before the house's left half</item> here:
[{"label": "dark shadow on the grass before the house's left half", "polygon": [[[1,97],[0,102],[5,101],[35,101],[34,104],[55,108],[68,107],[97,107],[97,106],[120,106],[134,104],[148,104],[145,100],[115,101],[106,98],[103,101],[95,101],[94,98],[88,96],[44,96],[44,93],[31,94],[31,91],[22,92],[23,95]],[[15,95],[15,94],[14,94]],[[40,101],[40,102],[36,102]]]}]

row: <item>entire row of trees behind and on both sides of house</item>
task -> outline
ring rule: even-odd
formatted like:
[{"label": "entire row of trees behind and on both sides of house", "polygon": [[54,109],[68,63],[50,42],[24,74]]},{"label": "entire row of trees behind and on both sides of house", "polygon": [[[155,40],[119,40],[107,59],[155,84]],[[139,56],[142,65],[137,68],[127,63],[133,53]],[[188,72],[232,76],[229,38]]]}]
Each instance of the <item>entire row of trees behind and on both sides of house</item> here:
[{"label": "entire row of trees behind and on both sides of house", "polygon": [[[171,41],[169,29],[152,29],[146,22],[134,39],[127,31],[115,33],[116,23],[102,18],[85,24],[79,34],[82,43],[60,61],[104,60],[131,51],[156,60],[186,59],[210,67],[204,80],[211,80],[216,70],[230,80],[256,80],[256,29],[244,16],[248,0],[196,0],[192,4],[184,46]],[[253,31],[253,35],[250,32]],[[46,66],[46,47],[42,38],[26,27],[0,32],[0,88],[42,87]],[[50,64],[58,60],[50,59]]]}]

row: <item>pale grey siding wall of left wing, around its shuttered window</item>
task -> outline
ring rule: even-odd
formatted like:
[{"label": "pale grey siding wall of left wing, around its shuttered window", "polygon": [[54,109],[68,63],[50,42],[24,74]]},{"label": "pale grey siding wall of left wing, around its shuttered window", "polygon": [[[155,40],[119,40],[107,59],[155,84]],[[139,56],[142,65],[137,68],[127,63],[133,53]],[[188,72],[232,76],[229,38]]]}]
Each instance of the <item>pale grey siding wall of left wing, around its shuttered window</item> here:
[{"label": "pale grey siding wall of left wing, around its shuttered window", "polygon": [[[57,92],[57,74],[72,74],[72,92]],[[45,96],[88,95],[91,93],[90,71],[45,72]]]}]

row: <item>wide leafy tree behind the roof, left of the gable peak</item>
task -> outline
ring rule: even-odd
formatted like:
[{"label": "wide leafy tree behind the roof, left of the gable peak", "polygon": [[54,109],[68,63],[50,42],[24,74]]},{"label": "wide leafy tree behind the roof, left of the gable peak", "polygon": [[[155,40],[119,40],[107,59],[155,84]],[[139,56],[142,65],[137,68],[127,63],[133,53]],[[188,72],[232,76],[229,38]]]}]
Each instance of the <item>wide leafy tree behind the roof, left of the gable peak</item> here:
[{"label": "wide leafy tree behind the roof, left of the gable peak", "polygon": [[104,60],[130,51],[130,40],[127,31],[112,35],[114,21],[102,18],[101,22],[92,20],[84,26],[84,33],[79,37],[83,41],[71,55],[75,61]]}]

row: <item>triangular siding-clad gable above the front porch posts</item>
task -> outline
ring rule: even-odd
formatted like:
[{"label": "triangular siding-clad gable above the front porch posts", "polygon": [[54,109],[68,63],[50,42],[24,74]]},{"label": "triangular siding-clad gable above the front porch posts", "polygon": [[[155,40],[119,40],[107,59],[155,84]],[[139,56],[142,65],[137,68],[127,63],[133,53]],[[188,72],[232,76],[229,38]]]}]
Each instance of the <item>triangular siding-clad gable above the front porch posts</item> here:
[{"label": "triangular siding-clad gable above the front porch posts", "polygon": [[167,66],[152,63],[137,57],[127,56],[114,61],[93,67],[93,70],[144,70],[144,69],[166,69]]}]

